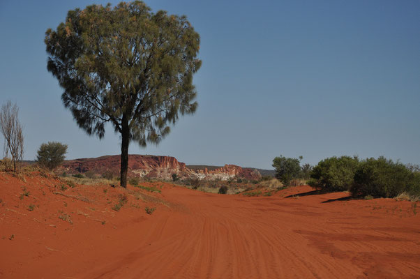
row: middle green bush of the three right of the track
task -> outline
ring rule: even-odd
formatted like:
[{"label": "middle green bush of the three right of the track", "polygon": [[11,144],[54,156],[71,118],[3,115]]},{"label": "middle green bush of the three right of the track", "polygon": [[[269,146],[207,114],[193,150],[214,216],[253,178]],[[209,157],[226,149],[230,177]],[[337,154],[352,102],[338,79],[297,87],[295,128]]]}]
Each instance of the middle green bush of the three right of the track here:
[{"label": "middle green bush of the three right of the track", "polygon": [[350,190],[358,166],[357,157],[341,156],[324,159],[313,167],[308,184],[313,188],[327,191]]}]

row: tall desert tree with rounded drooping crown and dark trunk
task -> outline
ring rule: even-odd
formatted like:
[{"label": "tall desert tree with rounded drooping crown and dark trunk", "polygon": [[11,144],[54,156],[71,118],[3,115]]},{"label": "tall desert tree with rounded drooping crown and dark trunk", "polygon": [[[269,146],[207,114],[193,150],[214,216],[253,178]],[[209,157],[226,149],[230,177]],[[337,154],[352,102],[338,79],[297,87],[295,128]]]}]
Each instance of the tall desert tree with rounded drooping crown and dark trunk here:
[{"label": "tall desert tree with rounded drooping crown and dark trunk", "polygon": [[185,16],[152,13],[142,1],[92,5],[68,11],[45,44],[47,69],[78,126],[102,138],[110,123],[121,135],[123,187],[130,142],[158,144],[197,108],[200,36]]}]

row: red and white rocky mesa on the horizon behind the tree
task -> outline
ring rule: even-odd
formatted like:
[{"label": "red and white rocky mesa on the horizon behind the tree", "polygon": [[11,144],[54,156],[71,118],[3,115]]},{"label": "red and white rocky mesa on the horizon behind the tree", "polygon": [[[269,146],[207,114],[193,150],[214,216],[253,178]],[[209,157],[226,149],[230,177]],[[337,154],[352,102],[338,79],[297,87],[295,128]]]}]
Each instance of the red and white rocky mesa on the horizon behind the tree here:
[{"label": "red and white rocky mesa on the horizon behind the tree", "polygon": [[[121,158],[119,155],[102,156],[98,158],[82,158],[66,160],[59,171],[68,174],[93,172],[105,174],[112,172],[119,175]],[[207,180],[229,180],[234,177],[242,179],[257,180],[261,174],[256,169],[239,167],[237,165],[225,165],[215,169],[188,168],[185,163],[179,162],[170,156],[153,155],[129,155],[128,156],[128,176],[172,179],[172,174],[177,174],[179,179],[207,179]]]}]

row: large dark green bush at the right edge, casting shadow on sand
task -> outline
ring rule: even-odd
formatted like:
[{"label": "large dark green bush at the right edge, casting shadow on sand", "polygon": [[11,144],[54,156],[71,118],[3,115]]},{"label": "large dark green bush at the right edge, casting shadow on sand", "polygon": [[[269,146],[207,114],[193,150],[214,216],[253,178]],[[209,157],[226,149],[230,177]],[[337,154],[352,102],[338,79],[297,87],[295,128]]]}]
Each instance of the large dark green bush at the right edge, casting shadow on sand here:
[{"label": "large dark green bush at the right edge, casting shadow on sand", "polygon": [[420,174],[384,157],[364,160],[354,174],[352,195],[396,197],[407,192],[420,195]]}]

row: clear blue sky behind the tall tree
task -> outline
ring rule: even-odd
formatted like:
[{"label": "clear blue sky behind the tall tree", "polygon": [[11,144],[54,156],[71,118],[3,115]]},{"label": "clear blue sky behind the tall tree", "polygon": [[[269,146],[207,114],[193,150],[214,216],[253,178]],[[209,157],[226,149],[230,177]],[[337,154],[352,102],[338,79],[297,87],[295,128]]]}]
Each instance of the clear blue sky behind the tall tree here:
[{"label": "clear blue sky behind the tall tree", "polygon": [[[77,127],[46,69],[47,28],[91,3],[107,1],[0,1],[0,104],[20,107],[27,160],[48,141],[68,144],[70,159],[120,153],[112,128],[98,140]],[[280,154],[420,164],[420,1],[146,3],[200,33],[199,108],[130,153],[266,169]]]}]

